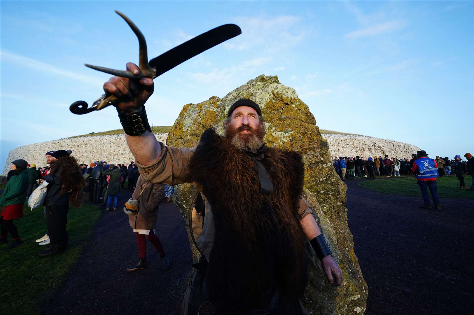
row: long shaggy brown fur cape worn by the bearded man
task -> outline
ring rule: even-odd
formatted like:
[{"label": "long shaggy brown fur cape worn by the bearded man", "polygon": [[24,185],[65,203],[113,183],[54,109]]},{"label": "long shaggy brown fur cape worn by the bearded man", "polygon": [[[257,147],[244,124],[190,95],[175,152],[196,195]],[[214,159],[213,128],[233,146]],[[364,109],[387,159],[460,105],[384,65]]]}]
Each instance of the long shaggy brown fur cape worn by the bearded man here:
[{"label": "long shaggy brown fur cape worn by the bearded man", "polygon": [[268,305],[269,288],[294,299],[306,287],[301,155],[267,148],[261,162],[274,186],[269,196],[259,193],[254,160],[212,128],[190,161],[190,178],[202,185],[215,225],[206,286],[226,314]]}]

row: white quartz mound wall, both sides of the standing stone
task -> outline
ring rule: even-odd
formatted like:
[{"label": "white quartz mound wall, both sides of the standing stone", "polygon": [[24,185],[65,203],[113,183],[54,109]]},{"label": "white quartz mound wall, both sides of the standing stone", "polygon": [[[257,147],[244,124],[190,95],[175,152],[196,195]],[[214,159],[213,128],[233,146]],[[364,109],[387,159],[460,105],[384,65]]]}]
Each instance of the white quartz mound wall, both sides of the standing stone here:
[{"label": "white quartz mound wall, both sides of the standing stone", "polygon": [[[167,134],[155,134],[156,139],[166,142]],[[398,158],[410,157],[419,147],[403,142],[373,138],[360,135],[323,135],[328,141],[331,157],[356,156],[368,158],[374,155],[389,155]],[[128,149],[125,135],[96,135],[89,137],[66,138],[20,146],[8,154],[3,174],[10,170],[10,163],[24,159],[36,167],[46,166],[45,153],[49,150],[72,150],[79,163],[89,165],[93,161],[108,163],[129,163],[133,155]]]}]

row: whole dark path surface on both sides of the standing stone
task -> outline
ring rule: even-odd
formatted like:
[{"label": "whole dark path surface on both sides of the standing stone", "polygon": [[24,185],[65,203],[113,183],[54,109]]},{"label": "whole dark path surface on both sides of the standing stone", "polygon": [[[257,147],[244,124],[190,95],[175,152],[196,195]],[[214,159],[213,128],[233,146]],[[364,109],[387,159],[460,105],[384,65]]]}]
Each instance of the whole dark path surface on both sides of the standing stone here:
[{"label": "whole dark path surface on both sides of the standing stone", "polygon": [[[441,199],[442,210],[423,210],[421,198],[383,194],[357,182],[346,181],[347,216],[369,286],[365,314],[470,313],[472,200]],[[130,197],[122,194],[119,209]],[[162,269],[147,242],[147,268],[127,273],[138,257],[128,217],[122,210],[102,210],[91,242],[42,314],[181,314],[192,260],[182,217],[172,203],[160,205],[157,234],[170,269]]]}]

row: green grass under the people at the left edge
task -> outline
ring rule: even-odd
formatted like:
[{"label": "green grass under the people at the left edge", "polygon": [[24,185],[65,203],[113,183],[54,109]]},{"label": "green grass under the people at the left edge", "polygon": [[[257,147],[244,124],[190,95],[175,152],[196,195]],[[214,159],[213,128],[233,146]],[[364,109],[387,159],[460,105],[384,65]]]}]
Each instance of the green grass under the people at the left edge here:
[{"label": "green grass under the people at the left edge", "polygon": [[8,314],[39,314],[41,303],[53,296],[78,260],[100,216],[99,207],[70,207],[67,216],[68,248],[62,254],[40,258],[38,253],[44,250],[44,246],[39,246],[35,240],[46,232],[44,208],[30,211],[25,203],[23,212],[24,216],[14,221],[23,243],[4,251],[11,243],[11,235],[8,235],[9,243],[0,245],[0,313],[8,310]]}]

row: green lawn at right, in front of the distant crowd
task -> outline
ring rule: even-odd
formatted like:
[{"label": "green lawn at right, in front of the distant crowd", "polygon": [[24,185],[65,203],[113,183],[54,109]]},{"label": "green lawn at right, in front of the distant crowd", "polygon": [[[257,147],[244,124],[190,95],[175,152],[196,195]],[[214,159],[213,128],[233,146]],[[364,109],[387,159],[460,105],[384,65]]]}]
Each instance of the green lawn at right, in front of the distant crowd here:
[{"label": "green lawn at right, in front of the distant crowd", "polygon": [[[465,177],[466,186],[471,186],[471,177]],[[421,197],[421,191],[414,177],[383,178],[365,180],[358,183],[360,187],[380,191],[383,193]],[[459,180],[456,176],[443,176],[437,179],[439,198],[470,198],[474,199],[474,192],[459,189]],[[429,194],[429,193],[428,193]]]}]

